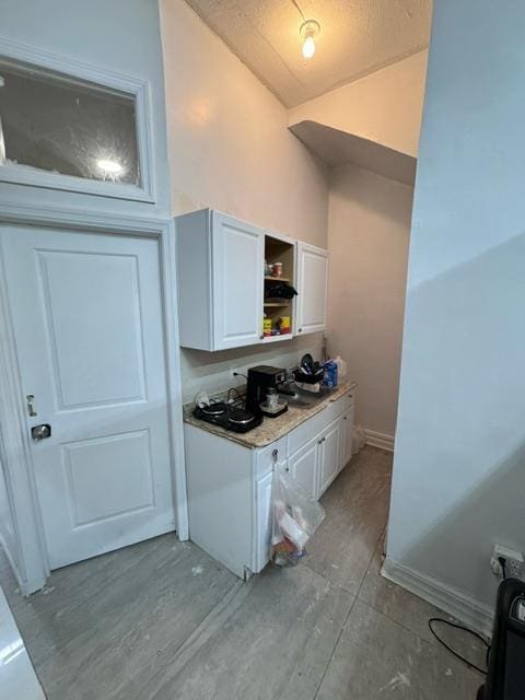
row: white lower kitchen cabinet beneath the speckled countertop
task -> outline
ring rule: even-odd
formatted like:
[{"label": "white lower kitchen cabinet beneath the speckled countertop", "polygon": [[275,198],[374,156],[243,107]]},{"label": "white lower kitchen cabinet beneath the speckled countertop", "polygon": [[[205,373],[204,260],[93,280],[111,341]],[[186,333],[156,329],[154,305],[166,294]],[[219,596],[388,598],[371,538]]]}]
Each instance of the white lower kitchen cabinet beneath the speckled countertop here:
[{"label": "white lower kitchen cabinet beneath the speckled countertop", "polygon": [[241,578],[261,571],[271,555],[275,469],[320,498],[350,460],[352,423],[353,392],[261,448],[186,423],[190,539]]}]

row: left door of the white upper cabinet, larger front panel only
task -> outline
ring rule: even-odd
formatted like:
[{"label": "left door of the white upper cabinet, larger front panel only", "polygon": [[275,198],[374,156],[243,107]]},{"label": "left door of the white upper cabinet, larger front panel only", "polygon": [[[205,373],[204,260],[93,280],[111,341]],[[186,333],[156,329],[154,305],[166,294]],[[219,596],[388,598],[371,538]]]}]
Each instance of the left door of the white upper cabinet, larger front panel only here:
[{"label": "left door of the white upper cabinet, larger front panel only", "polygon": [[264,230],[213,212],[214,350],[260,342],[264,265]]}]

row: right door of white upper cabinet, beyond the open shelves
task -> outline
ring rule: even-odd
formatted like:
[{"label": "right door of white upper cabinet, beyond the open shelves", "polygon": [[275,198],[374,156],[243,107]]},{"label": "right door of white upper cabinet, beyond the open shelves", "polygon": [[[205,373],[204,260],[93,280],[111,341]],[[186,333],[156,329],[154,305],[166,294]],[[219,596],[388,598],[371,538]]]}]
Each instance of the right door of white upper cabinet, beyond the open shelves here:
[{"label": "right door of white upper cabinet, beyond the open shelves", "polygon": [[328,252],[306,243],[298,245],[298,332],[326,327]]}]

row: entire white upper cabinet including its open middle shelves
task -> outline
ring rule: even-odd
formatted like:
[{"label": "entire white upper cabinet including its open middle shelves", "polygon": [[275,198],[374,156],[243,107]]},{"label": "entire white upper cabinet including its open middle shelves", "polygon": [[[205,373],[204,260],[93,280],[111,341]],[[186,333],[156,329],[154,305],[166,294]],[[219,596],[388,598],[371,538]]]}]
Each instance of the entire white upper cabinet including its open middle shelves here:
[{"label": "entire white upper cabinet including its open middle shelves", "polygon": [[324,330],[327,250],[211,209],[177,217],[176,240],[183,347],[226,350]]}]

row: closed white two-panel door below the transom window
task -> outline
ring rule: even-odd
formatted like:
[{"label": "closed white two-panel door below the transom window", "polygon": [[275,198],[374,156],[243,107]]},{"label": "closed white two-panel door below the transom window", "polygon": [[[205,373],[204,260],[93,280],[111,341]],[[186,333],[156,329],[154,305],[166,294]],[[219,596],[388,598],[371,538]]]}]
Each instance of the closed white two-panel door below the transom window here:
[{"label": "closed white two-panel door below the transom window", "polygon": [[0,230],[51,569],[174,529],[154,240]]}]

